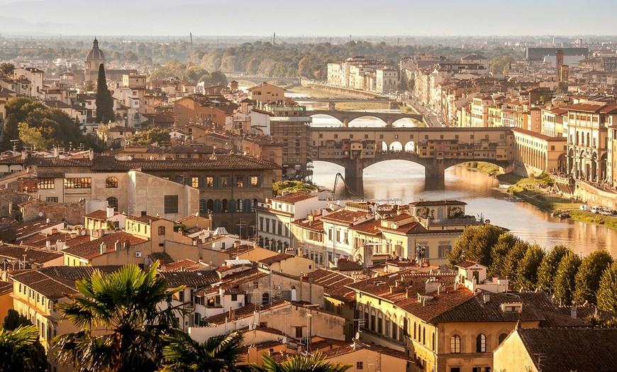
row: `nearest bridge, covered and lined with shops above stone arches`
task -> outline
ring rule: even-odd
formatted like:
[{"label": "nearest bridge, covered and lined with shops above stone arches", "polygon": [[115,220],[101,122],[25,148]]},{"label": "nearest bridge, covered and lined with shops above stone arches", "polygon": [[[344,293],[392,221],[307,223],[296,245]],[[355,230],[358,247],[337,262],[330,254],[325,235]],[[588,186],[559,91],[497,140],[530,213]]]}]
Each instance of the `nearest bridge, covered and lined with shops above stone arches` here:
[{"label": "nearest bridge, covered and lined with shops above stone arches", "polygon": [[311,131],[313,160],[342,165],[345,180],[356,191],[362,190],[364,169],[386,160],[413,161],[423,165],[426,177],[443,177],[447,168],[467,161],[509,168],[516,156],[510,128],[313,127]]}]

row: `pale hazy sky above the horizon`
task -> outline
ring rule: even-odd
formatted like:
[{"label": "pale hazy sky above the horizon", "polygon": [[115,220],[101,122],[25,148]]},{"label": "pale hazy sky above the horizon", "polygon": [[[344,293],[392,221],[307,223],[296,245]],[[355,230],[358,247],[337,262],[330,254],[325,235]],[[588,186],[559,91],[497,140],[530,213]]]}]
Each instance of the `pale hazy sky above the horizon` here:
[{"label": "pale hazy sky above the horizon", "polygon": [[0,0],[0,33],[616,35],[617,1]]}]

